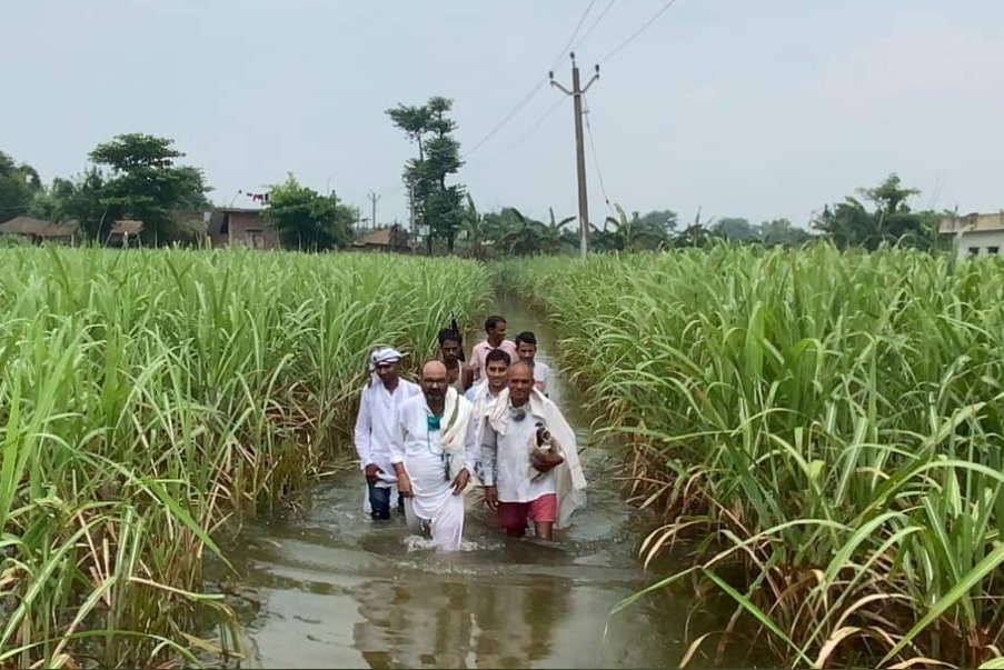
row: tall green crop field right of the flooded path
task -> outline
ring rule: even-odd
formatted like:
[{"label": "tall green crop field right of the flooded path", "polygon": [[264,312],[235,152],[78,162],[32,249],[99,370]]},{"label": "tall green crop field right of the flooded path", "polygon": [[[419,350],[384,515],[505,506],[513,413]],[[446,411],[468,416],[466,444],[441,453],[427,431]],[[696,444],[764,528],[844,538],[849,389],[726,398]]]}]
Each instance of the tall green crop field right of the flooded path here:
[{"label": "tall green crop field right of the flooded path", "polygon": [[1001,656],[998,260],[717,247],[497,274],[628,436],[666,513],[646,562],[694,542],[653,588],[723,589],[733,630],[798,666]]}]

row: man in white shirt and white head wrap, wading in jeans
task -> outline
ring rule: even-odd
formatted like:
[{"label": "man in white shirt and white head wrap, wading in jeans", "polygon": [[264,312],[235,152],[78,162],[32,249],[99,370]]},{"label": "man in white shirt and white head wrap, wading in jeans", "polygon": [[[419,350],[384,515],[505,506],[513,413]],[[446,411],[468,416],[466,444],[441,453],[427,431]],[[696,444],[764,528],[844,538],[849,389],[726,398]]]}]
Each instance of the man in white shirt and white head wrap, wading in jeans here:
[{"label": "man in white shirt and white head wrap, wading in jeans", "polygon": [[390,501],[398,499],[397,478],[390,466],[390,439],[398,406],[421,393],[418,384],[400,378],[401,354],[390,348],[370,354],[370,380],[359,398],[356,416],[356,452],[366,476],[367,504],[375,520],[390,519]]}]

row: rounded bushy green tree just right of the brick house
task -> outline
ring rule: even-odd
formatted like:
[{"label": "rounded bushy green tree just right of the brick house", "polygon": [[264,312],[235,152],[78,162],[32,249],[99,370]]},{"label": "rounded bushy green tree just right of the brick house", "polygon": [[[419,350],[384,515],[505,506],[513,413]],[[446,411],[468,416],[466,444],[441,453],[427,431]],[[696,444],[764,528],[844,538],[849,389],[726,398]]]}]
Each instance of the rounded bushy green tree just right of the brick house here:
[{"label": "rounded bushy green tree just right of the brick house", "polygon": [[270,187],[265,218],[279,231],[284,243],[297,249],[322,251],[352,241],[352,222],[359,212],[301,186],[290,172],[286,181]]}]

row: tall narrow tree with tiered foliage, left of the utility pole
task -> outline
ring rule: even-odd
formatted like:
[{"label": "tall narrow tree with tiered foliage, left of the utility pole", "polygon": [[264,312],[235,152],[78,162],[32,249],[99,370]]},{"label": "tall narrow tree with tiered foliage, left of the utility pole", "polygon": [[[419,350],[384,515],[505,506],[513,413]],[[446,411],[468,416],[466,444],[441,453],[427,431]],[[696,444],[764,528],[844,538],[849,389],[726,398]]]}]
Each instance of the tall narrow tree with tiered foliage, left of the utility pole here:
[{"label": "tall narrow tree with tiered foliage, left of the utility pole", "polygon": [[386,111],[395,126],[418,146],[418,157],[405,164],[405,183],[411,188],[415,214],[419,226],[427,226],[428,250],[441,240],[453,253],[457,233],[465,224],[465,189],[447,179],[459,172],[460,143],[453,133],[457,123],[449,118],[453,100],[429,98],[420,107],[398,104]]}]

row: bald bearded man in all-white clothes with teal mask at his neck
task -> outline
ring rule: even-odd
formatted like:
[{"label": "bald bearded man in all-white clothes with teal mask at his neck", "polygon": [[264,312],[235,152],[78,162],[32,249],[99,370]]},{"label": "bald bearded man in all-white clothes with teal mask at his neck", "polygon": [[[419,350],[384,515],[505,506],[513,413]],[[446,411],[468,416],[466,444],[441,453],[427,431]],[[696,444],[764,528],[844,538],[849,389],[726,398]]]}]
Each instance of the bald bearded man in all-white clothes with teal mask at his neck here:
[{"label": "bald bearded man in all-white clothes with teal mask at his neck", "polygon": [[420,386],[421,396],[398,407],[390,463],[408,528],[427,529],[438,547],[455,551],[464,534],[463,493],[477,456],[477,424],[443,362],[425,364]]}]

